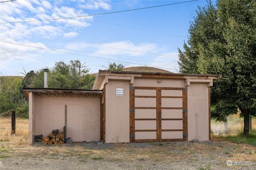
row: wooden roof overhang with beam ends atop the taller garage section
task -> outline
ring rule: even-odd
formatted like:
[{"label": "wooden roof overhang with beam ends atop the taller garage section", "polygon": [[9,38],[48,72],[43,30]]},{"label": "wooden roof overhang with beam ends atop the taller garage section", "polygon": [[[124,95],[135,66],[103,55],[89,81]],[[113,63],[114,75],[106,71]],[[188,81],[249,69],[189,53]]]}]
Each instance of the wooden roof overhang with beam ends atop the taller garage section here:
[{"label": "wooden roof overhang with beam ends atop the taller garage section", "polygon": [[156,79],[184,79],[186,87],[190,85],[190,82],[208,83],[210,87],[213,85],[213,80],[220,79],[221,75],[99,70],[92,89],[100,89],[102,82],[108,83],[108,80],[127,80],[130,81],[130,85],[132,85],[134,78],[136,77]]}]

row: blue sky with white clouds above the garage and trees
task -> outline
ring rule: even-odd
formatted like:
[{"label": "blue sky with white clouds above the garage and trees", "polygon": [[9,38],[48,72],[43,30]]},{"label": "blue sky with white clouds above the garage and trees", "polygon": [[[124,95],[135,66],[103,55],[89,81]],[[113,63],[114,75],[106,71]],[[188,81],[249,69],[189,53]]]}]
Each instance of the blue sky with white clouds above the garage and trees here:
[{"label": "blue sky with white clouds above the garage and trees", "polygon": [[[0,22],[62,18],[177,2],[183,1],[17,0],[0,4]],[[110,60],[123,61],[116,63],[125,66],[148,65],[177,72],[178,48],[182,49],[187,41],[189,22],[196,16],[197,6],[205,4],[206,1],[195,1],[86,18],[0,24],[1,41],[86,55],[0,42],[0,72],[21,75],[18,72],[23,68],[27,72],[36,71],[52,67],[57,61],[70,60],[81,60],[90,72],[105,69],[103,66],[113,62]]]}]

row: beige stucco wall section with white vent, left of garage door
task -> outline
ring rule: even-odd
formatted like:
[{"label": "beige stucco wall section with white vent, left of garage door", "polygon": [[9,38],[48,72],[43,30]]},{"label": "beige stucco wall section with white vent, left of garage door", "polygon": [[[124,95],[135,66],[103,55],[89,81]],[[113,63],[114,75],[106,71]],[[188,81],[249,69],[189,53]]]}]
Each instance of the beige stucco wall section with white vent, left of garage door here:
[{"label": "beige stucco wall section with white vent, left of garage door", "polygon": [[[129,142],[130,81],[109,80],[106,84],[105,142]],[[116,88],[124,88],[124,96],[116,96]]]}]

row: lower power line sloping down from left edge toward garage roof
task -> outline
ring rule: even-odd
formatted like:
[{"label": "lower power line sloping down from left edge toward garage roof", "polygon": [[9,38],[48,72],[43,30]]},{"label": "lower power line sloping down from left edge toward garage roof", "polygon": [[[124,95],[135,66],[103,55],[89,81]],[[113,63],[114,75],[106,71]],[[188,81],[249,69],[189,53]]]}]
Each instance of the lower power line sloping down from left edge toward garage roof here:
[{"label": "lower power line sloping down from left edge toward garage roof", "polygon": [[[2,43],[14,44],[14,45],[20,45],[20,46],[25,46],[25,47],[31,47],[31,48],[38,48],[38,49],[50,50],[50,51],[59,52],[59,53],[66,53],[66,54],[72,54],[72,55],[78,55],[78,56],[85,56],[85,57],[91,57],[91,58],[98,58],[98,59],[101,59],[101,60],[116,61],[116,62],[129,63],[129,64],[137,64],[137,65],[143,65],[143,66],[145,65],[145,64],[132,63],[132,62],[125,62],[125,61],[120,61],[120,60],[113,60],[113,59],[103,58],[103,57],[95,57],[95,56],[89,56],[89,55],[83,55],[83,54],[69,53],[69,52],[64,52],[64,51],[61,51],[61,50],[55,50],[55,49],[50,49],[50,48],[35,47],[35,46],[30,46],[30,45],[23,45],[23,44],[18,44],[18,43],[11,43],[11,42],[2,41],[2,40],[0,40],[0,42],[2,42]],[[148,65],[148,66],[151,66],[151,65]],[[162,68],[162,69],[175,70],[175,69],[171,69],[171,68],[168,68],[168,67],[160,67],[160,66],[151,66],[151,67],[158,67],[158,68]]]}]

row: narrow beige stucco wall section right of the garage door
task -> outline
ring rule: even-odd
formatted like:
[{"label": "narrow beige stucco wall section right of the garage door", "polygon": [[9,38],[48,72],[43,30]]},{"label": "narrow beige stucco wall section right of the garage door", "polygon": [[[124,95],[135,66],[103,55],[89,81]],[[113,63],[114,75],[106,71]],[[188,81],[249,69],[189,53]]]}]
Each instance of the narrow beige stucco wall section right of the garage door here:
[{"label": "narrow beige stucco wall section right of the garage door", "polygon": [[188,141],[196,139],[196,131],[198,140],[209,140],[208,90],[207,83],[190,83],[188,86]]}]

